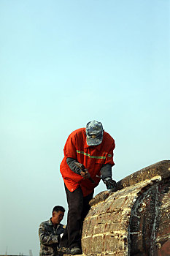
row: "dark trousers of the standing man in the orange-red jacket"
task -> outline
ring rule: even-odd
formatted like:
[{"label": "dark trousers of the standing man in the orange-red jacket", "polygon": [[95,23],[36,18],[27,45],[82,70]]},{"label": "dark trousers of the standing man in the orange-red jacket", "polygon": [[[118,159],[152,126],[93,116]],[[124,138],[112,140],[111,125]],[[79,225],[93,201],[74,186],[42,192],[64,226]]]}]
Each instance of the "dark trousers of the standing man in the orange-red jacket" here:
[{"label": "dark trousers of the standing man in the orange-red jacket", "polygon": [[93,193],[83,197],[81,187],[73,192],[66,188],[66,198],[69,206],[67,214],[67,225],[61,238],[60,246],[81,248],[82,223],[90,209],[89,201],[93,198]]}]

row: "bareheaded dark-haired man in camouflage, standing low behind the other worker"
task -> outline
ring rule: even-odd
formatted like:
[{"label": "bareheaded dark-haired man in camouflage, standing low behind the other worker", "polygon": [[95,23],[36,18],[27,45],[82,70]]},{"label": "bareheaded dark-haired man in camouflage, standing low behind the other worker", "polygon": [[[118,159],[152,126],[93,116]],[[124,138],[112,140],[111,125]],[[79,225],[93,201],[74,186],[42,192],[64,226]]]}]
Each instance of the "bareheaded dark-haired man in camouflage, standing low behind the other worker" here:
[{"label": "bareheaded dark-haired man in camouflage, standing low behind the other worker", "polygon": [[65,209],[62,206],[53,208],[52,218],[39,225],[40,252],[39,256],[57,256],[58,244],[61,234],[66,226],[60,222],[63,219]]}]

